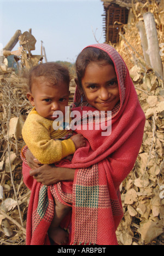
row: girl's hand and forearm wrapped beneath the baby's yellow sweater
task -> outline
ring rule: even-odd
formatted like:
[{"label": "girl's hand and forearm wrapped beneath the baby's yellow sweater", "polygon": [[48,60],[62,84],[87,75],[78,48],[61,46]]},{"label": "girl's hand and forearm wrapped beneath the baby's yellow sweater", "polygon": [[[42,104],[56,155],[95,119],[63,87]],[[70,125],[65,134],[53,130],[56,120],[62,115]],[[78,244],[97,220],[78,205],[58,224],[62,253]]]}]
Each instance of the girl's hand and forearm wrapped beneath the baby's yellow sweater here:
[{"label": "girl's hand and forearm wrapped beneath the baby's yellow sweater", "polygon": [[52,185],[62,180],[73,181],[74,173],[75,169],[55,167],[53,164],[30,170],[30,175],[43,185]]}]

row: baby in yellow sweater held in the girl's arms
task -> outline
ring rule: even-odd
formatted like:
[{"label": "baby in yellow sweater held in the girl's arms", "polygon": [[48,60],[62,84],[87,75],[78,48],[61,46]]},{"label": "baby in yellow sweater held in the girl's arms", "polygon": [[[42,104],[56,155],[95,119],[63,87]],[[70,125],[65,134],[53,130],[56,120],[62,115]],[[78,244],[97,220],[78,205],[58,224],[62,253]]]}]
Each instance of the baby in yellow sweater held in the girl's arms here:
[{"label": "baby in yellow sweater held in the girl's arms", "polygon": [[[70,93],[69,82],[68,70],[56,62],[40,64],[29,73],[27,98],[33,109],[22,128],[22,137],[28,149],[42,164],[58,162],[72,155],[79,147],[86,146],[83,135],[72,135],[71,130],[65,129],[65,122],[63,129],[54,130],[52,127],[57,120],[53,116],[55,111],[61,111],[65,117]],[[68,234],[61,229],[60,223],[70,208],[55,199],[55,216],[49,235],[58,244],[67,242]]]}]

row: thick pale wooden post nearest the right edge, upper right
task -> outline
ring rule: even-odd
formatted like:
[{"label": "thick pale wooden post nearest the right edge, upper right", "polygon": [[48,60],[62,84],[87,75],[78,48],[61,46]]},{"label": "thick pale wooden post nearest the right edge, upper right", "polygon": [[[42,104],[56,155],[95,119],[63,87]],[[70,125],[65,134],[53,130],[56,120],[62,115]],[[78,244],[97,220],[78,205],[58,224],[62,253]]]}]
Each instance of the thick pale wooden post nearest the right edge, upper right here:
[{"label": "thick pale wooden post nearest the right edge, upper right", "polygon": [[148,41],[148,55],[150,59],[150,64],[152,69],[155,71],[156,75],[163,79],[163,66],[160,56],[160,47],[157,37],[156,25],[153,13],[144,13],[144,24],[145,31],[147,34]]}]

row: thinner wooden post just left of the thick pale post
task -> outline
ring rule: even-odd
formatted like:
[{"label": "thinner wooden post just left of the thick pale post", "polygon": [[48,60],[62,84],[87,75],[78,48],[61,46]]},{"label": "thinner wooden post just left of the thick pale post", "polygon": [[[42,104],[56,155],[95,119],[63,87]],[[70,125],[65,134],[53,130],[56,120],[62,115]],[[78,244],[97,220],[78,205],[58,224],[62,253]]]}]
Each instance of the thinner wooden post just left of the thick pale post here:
[{"label": "thinner wooden post just left of the thick pale post", "polygon": [[143,50],[143,55],[144,55],[144,60],[148,66],[150,66],[150,59],[149,59],[149,54],[147,53],[148,51],[148,41],[147,41],[147,35],[145,31],[145,26],[143,21],[139,21],[137,24],[137,28],[139,30],[139,35],[140,35],[140,42]]}]

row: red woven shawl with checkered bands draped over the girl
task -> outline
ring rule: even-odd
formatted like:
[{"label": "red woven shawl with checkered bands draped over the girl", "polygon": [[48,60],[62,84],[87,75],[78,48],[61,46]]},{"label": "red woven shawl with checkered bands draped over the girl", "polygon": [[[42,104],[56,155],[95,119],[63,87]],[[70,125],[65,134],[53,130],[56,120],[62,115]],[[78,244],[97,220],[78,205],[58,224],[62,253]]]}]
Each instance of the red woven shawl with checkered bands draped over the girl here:
[{"label": "red woven shawl with checkered bands draped over the girl", "polygon": [[[69,244],[118,244],[115,230],[122,218],[119,186],[132,170],[143,138],[144,113],[121,56],[108,44],[90,45],[112,58],[118,78],[120,106],[112,116],[112,133],[76,130],[87,139],[85,148],[74,153],[72,163],[58,166],[75,168],[72,183],[52,186],[37,184],[23,163],[25,184],[32,190],[27,215],[27,244],[49,244],[47,231],[54,216],[54,200],[72,204],[72,218],[62,222],[69,229]],[[76,90],[74,101],[79,101]],[[80,107],[74,107],[80,111]],[[83,107],[83,110],[90,110]],[[93,110],[93,108],[91,108]],[[95,110],[95,109],[94,109]]]}]

